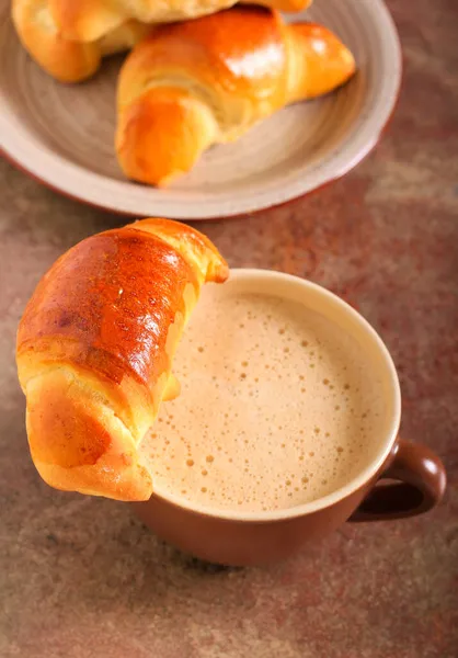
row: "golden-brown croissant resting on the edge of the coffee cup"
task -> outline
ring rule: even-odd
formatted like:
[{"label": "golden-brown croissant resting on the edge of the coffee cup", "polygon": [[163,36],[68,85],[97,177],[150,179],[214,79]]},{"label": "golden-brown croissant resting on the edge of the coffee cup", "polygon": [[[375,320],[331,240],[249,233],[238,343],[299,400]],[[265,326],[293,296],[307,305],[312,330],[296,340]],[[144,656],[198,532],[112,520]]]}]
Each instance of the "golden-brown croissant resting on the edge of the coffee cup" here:
[{"label": "golden-brown croissant resting on the edge of the coffee cup", "polygon": [[145,219],[60,257],[21,319],[16,363],[32,458],[53,487],[146,500],[138,447],[163,399],[178,341],[204,282],[228,266],[195,229]]}]

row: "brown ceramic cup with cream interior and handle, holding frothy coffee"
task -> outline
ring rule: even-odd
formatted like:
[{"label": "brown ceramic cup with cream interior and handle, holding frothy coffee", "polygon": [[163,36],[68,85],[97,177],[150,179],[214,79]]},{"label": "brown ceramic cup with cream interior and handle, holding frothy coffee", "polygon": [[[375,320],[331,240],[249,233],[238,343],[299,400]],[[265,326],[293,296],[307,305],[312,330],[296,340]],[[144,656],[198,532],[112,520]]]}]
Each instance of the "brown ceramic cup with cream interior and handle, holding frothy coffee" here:
[{"label": "brown ceramic cup with cream interior and handle, holding frothy coffee", "polygon": [[401,394],[391,356],[380,337],[348,304],[306,280],[267,270],[232,270],[225,286],[234,293],[264,294],[304,304],[352,336],[367,368],[377,373],[385,418],[374,428],[367,460],[343,487],[291,508],[240,512],[193,504],[154,494],[133,503],[137,515],[160,537],[211,563],[248,566],[284,559],[305,542],[345,521],[401,519],[423,513],[442,499],[446,475],[426,446],[398,436]]}]

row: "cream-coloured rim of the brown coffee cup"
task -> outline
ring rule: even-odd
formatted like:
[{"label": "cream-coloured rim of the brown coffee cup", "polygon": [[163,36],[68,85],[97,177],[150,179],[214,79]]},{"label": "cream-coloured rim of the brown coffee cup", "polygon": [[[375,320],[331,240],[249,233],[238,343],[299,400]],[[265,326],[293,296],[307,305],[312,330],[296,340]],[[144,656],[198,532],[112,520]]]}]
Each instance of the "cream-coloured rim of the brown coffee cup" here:
[{"label": "cream-coloured rim of the brown coffee cup", "polygon": [[313,283],[307,279],[295,276],[293,274],[287,274],[285,272],[277,272],[275,270],[257,268],[233,268],[230,270],[229,281],[250,279],[253,276],[266,280],[274,277],[276,280],[290,282],[294,285],[300,284],[305,288],[313,290],[317,293],[321,294],[323,297],[328,298],[332,304],[339,306],[344,313],[351,315],[363,327],[363,329],[367,333],[369,333],[375,344],[377,345],[380,355],[383,358],[391,384],[389,395],[391,395],[390,401],[392,404],[393,410],[392,419],[386,433],[386,441],[383,443],[383,447],[375,455],[374,460],[371,460],[371,462],[362,472],[359,472],[343,487],[331,491],[327,496],[317,498],[316,500],[294,506],[291,508],[282,508],[278,510],[267,511],[260,510],[251,512],[237,511],[231,509],[220,509],[211,506],[193,503],[181,496],[176,496],[169,492],[159,492],[156,489],[152,494],[153,497],[159,498],[160,500],[167,501],[183,510],[204,517],[226,519],[229,521],[270,522],[288,520],[297,517],[305,517],[329,508],[334,503],[343,500],[344,498],[347,498],[373,479],[373,477],[378,473],[378,470],[381,468],[387,457],[389,456],[398,436],[399,426],[401,422],[401,388],[393,360],[385,342],[381,340],[380,336],[377,333],[374,327],[366,320],[366,318],[362,316],[355,308],[353,308],[347,302],[342,299],[342,297],[340,297],[335,293],[332,293],[324,286]]}]

